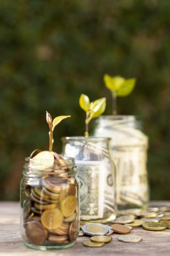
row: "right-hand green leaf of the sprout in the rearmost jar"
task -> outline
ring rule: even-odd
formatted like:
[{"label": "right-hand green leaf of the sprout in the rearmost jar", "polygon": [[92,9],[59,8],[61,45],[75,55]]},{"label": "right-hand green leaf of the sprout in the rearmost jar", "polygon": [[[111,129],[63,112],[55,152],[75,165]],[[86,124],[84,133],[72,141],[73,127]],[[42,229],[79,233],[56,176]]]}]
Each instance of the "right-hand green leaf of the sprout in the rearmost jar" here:
[{"label": "right-hand green leaf of the sprout in the rearmost jar", "polygon": [[118,97],[128,96],[135,88],[136,79],[126,79],[121,87],[116,91]]}]

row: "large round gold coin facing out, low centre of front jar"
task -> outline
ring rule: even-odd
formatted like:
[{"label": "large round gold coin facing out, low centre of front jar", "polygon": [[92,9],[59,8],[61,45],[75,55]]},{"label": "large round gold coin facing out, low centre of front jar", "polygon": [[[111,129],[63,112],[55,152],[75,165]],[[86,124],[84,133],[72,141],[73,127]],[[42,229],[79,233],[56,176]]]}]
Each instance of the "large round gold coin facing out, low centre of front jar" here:
[{"label": "large round gold coin facing out, low centre of front jar", "polygon": [[47,229],[57,229],[63,222],[63,214],[57,208],[45,210],[42,213],[41,222]]}]

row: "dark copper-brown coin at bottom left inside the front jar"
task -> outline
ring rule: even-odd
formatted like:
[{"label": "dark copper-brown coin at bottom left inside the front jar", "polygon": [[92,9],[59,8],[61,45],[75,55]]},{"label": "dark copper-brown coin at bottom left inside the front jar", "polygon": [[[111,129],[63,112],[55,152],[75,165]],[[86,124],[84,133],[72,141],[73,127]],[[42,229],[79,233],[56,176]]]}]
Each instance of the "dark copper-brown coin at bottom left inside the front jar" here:
[{"label": "dark copper-brown coin at bottom left inside the front jar", "polygon": [[29,221],[26,223],[26,236],[29,243],[33,245],[43,245],[48,232],[38,221]]}]

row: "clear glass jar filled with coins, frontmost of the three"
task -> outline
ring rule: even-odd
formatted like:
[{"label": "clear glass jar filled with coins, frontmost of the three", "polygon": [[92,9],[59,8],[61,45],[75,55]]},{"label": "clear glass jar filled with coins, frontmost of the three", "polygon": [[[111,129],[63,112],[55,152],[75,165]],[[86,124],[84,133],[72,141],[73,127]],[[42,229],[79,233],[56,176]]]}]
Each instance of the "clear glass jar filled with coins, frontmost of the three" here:
[{"label": "clear glass jar filled with coins, frontmost of the three", "polygon": [[[25,159],[20,185],[20,232],[27,247],[62,249],[71,247],[79,232],[79,180],[75,160],[38,171]],[[38,168],[39,169],[39,168]]]}]

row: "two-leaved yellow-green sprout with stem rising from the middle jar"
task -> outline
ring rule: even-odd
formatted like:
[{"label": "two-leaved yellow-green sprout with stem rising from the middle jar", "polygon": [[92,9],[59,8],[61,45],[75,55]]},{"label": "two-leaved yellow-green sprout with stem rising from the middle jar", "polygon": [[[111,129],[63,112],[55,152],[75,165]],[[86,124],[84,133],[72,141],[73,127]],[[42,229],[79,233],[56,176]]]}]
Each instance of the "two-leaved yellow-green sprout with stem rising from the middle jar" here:
[{"label": "two-leaved yellow-green sprout with stem rising from the middle jar", "polygon": [[90,123],[91,119],[102,115],[106,108],[106,98],[101,98],[90,102],[87,95],[81,94],[79,97],[79,106],[86,112],[86,128],[84,135],[85,137],[88,137],[88,124]]}]

